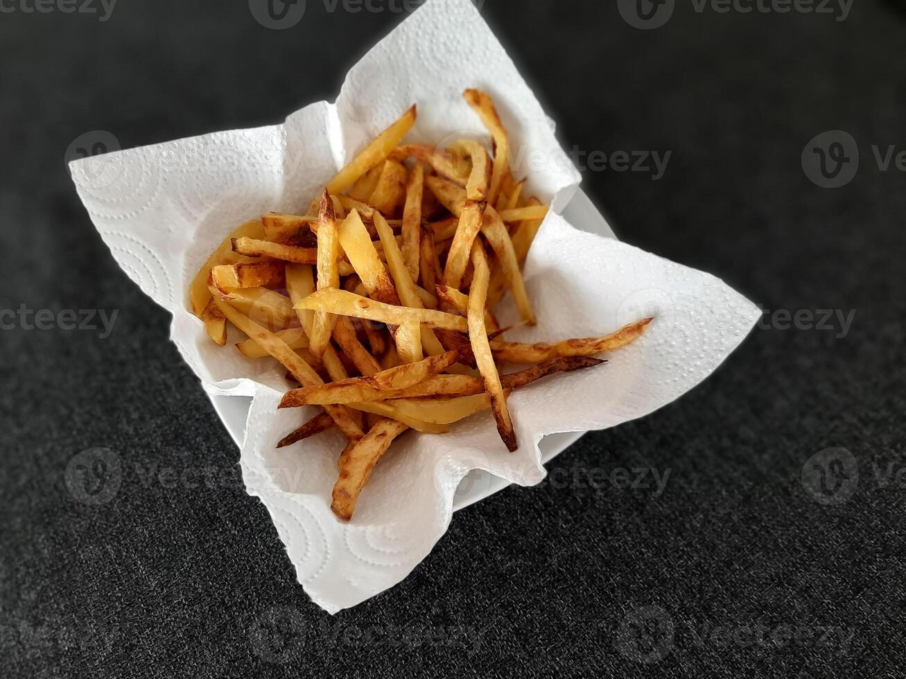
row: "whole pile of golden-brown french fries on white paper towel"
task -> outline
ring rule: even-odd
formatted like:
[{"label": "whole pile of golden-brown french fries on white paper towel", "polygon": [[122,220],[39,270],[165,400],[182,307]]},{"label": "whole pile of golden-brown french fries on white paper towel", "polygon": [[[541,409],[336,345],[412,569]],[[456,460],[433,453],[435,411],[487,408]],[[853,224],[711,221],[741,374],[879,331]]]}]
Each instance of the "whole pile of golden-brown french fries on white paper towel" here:
[{"label": "whole pile of golden-brown french fries on white paper towel", "polygon": [[[338,428],[347,439],[333,512],[352,519],[371,470],[408,429],[443,434],[490,409],[510,451],[506,398],[638,338],[651,319],[611,335],[521,344],[494,309],[510,292],[521,323],[535,311],[520,271],[547,207],[525,197],[487,93],[464,92],[493,139],[406,145],[416,107],[343,167],[305,215],[271,213],[236,229],[192,282],[191,311],[248,359],[273,357],[299,385],[280,407],[323,411],[278,447]],[[512,326],[511,326],[512,327]],[[498,364],[530,366],[501,375]]]}]

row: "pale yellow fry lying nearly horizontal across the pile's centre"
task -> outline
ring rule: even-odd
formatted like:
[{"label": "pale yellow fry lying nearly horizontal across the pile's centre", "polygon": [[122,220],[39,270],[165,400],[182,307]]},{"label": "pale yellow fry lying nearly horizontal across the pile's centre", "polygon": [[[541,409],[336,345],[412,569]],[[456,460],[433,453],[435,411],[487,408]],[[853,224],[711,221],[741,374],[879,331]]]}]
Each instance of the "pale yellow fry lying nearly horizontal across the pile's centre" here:
[{"label": "pale yellow fry lying nearly horizontal across the pile's centre", "polygon": [[299,309],[326,311],[342,316],[375,320],[390,325],[402,325],[407,320],[414,319],[418,320],[419,323],[424,323],[429,328],[444,328],[457,330],[458,332],[468,331],[466,319],[460,316],[454,316],[443,311],[434,311],[433,309],[412,309],[393,306],[381,301],[370,300],[367,297],[362,297],[354,292],[346,292],[345,290],[319,290],[304,301],[299,302],[296,306]]}]

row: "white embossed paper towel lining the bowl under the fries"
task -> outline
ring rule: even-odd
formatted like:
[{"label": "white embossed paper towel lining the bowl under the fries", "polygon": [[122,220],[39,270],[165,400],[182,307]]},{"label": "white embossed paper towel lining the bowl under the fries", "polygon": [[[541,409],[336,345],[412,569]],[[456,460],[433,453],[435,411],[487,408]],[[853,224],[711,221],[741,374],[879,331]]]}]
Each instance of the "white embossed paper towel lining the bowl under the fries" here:
[{"label": "white embossed paper towel lining the bowl under the fries", "polygon": [[[329,506],[341,435],[276,450],[313,411],[278,411],[284,370],[207,339],[186,311],[188,284],[236,225],[271,210],[307,208],[337,169],[413,102],[419,119],[408,139],[487,141],[462,99],[468,87],[492,94],[513,138],[516,176],[528,175],[531,193],[554,207],[525,267],[539,323],[508,337],[588,337],[643,316],[657,320],[609,363],[514,393],[515,454],[506,452],[487,413],[449,435],[402,436],[346,524]],[[265,503],[305,591],[331,613],[390,588],[425,558],[447,530],[456,487],[471,469],[538,483],[545,474],[542,436],[619,425],[670,403],[717,368],[760,313],[707,273],[579,232],[556,214],[580,176],[468,0],[429,0],[352,68],[334,104],[312,104],[283,125],[134,148],[71,169],[117,262],[173,314],[171,338],[205,388],[254,397],[241,451],[246,488]]]}]

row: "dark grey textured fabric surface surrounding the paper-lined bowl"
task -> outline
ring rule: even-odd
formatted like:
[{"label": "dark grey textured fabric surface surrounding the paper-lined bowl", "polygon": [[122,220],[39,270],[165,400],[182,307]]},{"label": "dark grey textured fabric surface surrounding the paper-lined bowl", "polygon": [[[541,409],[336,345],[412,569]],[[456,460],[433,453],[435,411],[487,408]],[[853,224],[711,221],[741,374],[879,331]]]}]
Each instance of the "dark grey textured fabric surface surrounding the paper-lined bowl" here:
[{"label": "dark grey textured fabric surface surrounding the paper-lined bowl", "polygon": [[[0,331],[0,675],[902,675],[906,176],[871,151],[906,148],[901,7],[855,0],[836,22],[677,0],[649,32],[601,0],[482,11],[566,148],[672,151],[660,181],[585,173],[622,239],[770,310],[855,310],[852,328],[755,330],[679,402],[586,435],[557,483],[458,513],[409,579],[329,617],[63,157],[92,129],[127,148],[278,122],[332,99],[400,14],[310,0],[284,32],[245,0],[0,14],[0,309],[119,310],[106,339]],[[827,129],[862,152],[842,188],[800,165]],[[95,446],[122,481],[89,506],[63,474]],[[829,447],[855,460],[835,505],[800,481]],[[190,488],[207,466],[216,483]],[[637,467],[669,471],[664,493],[599,483]]]}]

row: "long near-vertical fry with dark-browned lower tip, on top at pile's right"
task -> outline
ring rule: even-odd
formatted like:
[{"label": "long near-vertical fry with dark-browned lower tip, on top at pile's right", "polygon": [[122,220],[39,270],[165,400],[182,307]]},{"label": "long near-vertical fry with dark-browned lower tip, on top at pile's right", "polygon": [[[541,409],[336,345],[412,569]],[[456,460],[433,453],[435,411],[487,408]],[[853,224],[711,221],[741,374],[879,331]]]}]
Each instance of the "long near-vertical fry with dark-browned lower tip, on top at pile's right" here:
[{"label": "long near-vertical fry with dark-browned lower tip, on top at pile's right", "polygon": [[468,292],[468,337],[472,344],[472,353],[481,377],[485,380],[485,390],[490,397],[491,411],[497,423],[497,433],[503,440],[506,448],[512,453],[519,447],[516,442],[516,430],[513,420],[506,407],[506,395],[500,385],[500,375],[494,363],[494,356],[487,341],[485,329],[485,301],[487,301],[487,284],[490,282],[491,272],[487,267],[487,256],[484,246],[478,241],[472,247],[472,266],[475,275],[472,286]]}]

